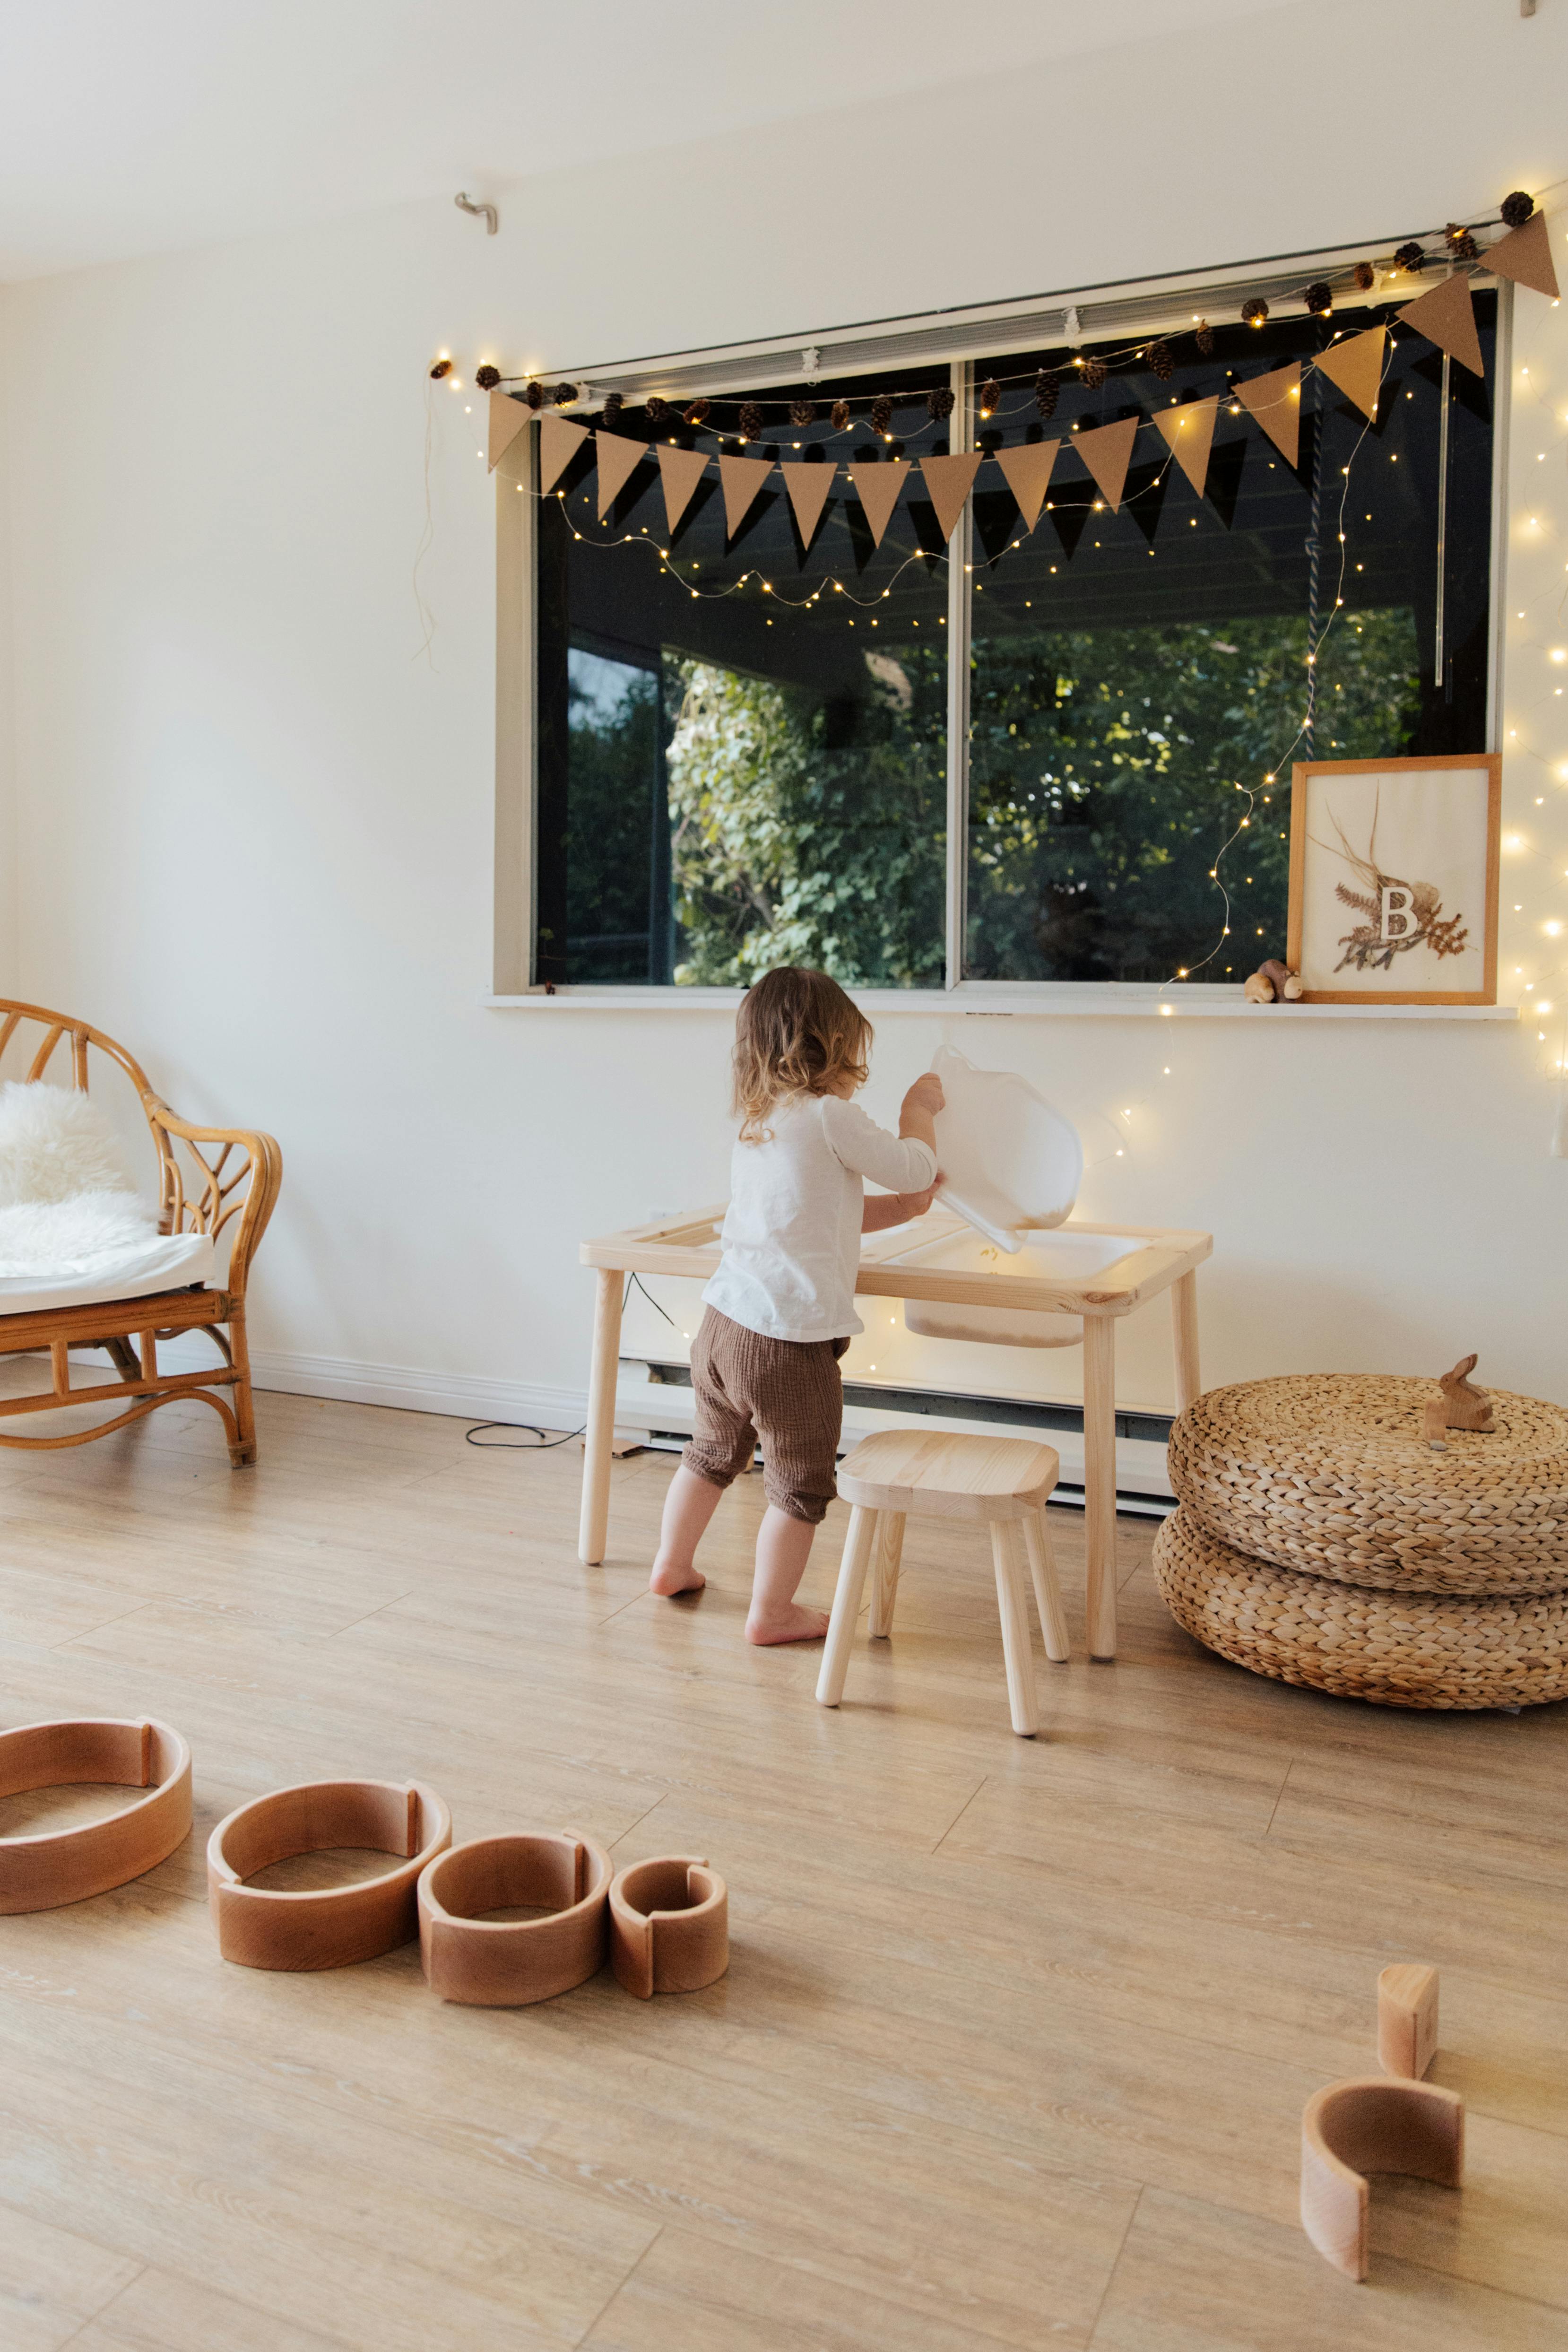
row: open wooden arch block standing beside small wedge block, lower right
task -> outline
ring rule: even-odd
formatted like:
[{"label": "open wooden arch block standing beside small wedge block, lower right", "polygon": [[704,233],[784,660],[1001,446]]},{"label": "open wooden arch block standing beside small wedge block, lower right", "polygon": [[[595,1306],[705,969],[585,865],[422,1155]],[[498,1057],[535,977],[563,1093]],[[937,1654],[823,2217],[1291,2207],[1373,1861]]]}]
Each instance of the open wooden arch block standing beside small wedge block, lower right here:
[{"label": "open wooden arch block standing beside small wedge block, lower right", "polygon": [[1465,2100],[1434,2082],[1352,2074],[1302,2110],[1302,2230],[1347,2279],[1366,2277],[1366,2173],[1413,2173],[1458,2190]]}]

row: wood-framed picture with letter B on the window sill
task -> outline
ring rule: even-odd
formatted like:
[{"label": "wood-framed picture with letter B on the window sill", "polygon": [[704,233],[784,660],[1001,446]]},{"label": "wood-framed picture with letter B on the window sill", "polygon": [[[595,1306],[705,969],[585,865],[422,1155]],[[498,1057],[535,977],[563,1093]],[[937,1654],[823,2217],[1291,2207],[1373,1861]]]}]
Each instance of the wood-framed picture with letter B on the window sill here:
[{"label": "wood-framed picture with letter B on the window sill", "polygon": [[1495,1004],[1502,757],[1298,760],[1302,1004]]}]

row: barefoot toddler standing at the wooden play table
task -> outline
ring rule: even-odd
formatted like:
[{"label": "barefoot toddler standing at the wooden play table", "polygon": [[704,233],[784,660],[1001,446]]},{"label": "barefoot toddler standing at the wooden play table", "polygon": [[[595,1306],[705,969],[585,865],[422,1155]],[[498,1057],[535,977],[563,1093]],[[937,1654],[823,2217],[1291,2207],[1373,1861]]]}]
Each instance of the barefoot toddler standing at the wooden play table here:
[{"label": "barefoot toddler standing at the wooden play table", "polygon": [[[741,1141],[731,1162],[724,1256],[703,1291],[691,1348],[696,1425],[665,1498],[654,1592],[693,1592],[696,1545],[722,1491],[762,1439],[769,1508],[757,1531],[748,1642],[816,1642],[799,1609],[811,1538],[835,1496],[844,1421],[839,1357],[856,1315],[860,1235],[924,1216],[938,1181],[940,1080],[917,1077],[889,1136],[853,1101],[867,1080],[870,1021],[825,971],[780,964],[736,1021]],[[863,1178],[886,1188],[865,1200]]]}]

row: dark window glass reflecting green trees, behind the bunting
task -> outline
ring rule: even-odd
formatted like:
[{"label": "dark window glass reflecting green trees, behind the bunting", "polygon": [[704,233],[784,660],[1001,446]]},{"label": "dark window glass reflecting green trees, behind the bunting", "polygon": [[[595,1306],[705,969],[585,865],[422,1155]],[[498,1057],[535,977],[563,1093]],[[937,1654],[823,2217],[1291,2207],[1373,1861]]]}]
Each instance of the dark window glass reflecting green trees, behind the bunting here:
[{"label": "dark window glass reflecting green trees, behind the bunting", "polygon": [[[1239,983],[1284,950],[1291,757],[1486,748],[1495,296],[1476,313],[1486,379],[1399,334],[1373,426],[1307,374],[1295,466],[1229,381],[1392,308],[1215,329],[1206,358],[1173,336],[1166,379],[1121,334],[715,393],[696,428],[628,400],[651,459],[839,473],[809,529],[769,473],[731,536],[708,466],[670,532],[656,461],[599,522],[585,442],[538,503],[536,981]],[[1114,513],[1077,433],[1208,393],[1204,494],[1143,430]],[[842,470],[1020,440],[1060,442],[1034,532],[983,461],[945,543],[914,466],[877,546]]]}]

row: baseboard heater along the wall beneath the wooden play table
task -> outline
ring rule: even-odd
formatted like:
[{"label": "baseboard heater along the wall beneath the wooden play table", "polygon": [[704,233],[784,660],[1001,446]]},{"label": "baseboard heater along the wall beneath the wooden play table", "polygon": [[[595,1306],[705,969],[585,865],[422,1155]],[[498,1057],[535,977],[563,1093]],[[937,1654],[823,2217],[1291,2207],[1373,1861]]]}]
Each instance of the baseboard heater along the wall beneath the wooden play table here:
[{"label": "baseboard heater along the wall beneath the wooden play table", "polygon": [[[661,1390],[668,1392],[663,1414]],[[1063,1477],[1053,1501],[1084,1508],[1084,1409],[1079,1404],[1041,1404],[1034,1397],[966,1397],[950,1390],[882,1388],[865,1381],[844,1383],[846,1446],[872,1428],[914,1418],[950,1430],[980,1423],[990,1430],[1046,1437],[1063,1456]],[[691,1369],[646,1357],[623,1359],[616,1383],[616,1430],[635,1435],[646,1446],[679,1451],[691,1437]],[[1117,1414],[1117,1510],[1164,1519],[1175,1508],[1166,1477],[1168,1437],[1171,1414]]]}]

